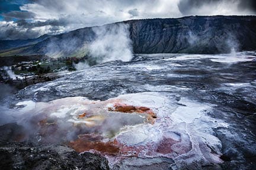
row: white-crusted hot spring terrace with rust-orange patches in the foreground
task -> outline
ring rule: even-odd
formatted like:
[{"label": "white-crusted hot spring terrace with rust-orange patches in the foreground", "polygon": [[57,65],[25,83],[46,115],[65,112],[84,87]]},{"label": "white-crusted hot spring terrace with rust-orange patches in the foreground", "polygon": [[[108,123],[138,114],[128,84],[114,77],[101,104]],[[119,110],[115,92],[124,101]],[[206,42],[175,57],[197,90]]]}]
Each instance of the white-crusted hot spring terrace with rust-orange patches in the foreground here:
[{"label": "white-crusted hot spring terrace with rust-orange patches in the foreground", "polygon": [[[201,126],[193,122],[211,122],[215,128],[225,123],[212,122],[204,115],[212,109],[211,104],[176,100],[177,96],[151,92],[123,94],[105,101],[66,97],[50,102],[21,102],[15,107],[21,107],[24,114],[37,113],[32,125],[38,129],[38,142],[67,143],[76,152],[106,156],[110,165],[133,157],[182,160],[201,154],[205,162],[221,163],[217,147],[222,145],[220,140],[207,134],[211,140],[206,141]],[[25,138],[17,136],[20,141]]]}]

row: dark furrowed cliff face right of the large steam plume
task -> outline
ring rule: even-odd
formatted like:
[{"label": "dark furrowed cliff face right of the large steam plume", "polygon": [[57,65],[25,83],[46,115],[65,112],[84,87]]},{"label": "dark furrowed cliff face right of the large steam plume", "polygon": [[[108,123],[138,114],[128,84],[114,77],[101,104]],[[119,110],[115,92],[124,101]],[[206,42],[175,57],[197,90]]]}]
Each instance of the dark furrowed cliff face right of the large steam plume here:
[{"label": "dark furrowed cliff face right of the large steam plume", "polygon": [[256,49],[256,17],[126,21],[135,53],[229,53]]}]

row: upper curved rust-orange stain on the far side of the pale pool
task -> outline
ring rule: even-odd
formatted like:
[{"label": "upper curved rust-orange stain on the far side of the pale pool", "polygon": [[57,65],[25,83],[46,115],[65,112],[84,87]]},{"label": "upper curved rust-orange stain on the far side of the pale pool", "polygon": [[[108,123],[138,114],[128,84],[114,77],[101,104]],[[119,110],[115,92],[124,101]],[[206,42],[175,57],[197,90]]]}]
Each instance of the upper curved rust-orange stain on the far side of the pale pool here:
[{"label": "upper curved rust-orange stain on the far side of the pale pool", "polygon": [[146,113],[148,115],[147,121],[151,124],[155,123],[156,115],[152,109],[143,106],[132,106],[123,103],[115,103],[114,109],[108,108],[109,111],[123,112],[123,113]]}]

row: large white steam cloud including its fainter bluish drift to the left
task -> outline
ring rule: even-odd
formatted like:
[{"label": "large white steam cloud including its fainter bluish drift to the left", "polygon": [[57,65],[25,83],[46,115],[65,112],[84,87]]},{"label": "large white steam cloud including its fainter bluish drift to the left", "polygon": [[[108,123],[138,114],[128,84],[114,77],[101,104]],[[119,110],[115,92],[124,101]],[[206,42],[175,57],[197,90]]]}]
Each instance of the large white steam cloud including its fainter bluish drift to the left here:
[{"label": "large white steam cloud including its fainter bluish drift to the left", "polygon": [[107,61],[130,61],[132,59],[129,25],[109,24],[93,27],[91,33],[94,38],[88,41],[83,41],[81,37],[72,37],[72,35],[61,40],[52,38],[47,44],[46,55],[52,58],[87,57],[85,61],[73,64],[76,70],[83,70]]}]

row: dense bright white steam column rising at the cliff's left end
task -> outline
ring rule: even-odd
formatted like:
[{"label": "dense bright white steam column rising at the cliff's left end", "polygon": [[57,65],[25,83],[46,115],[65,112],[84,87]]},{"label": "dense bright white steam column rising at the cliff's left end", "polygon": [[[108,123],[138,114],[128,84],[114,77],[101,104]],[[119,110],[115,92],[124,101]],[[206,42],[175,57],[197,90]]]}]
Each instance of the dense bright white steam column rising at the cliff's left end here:
[{"label": "dense bright white steam column rising at the cliff's left end", "polygon": [[94,27],[96,38],[89,45],[89,53],[97,63],[132,59],[132,40],[130,40],[129,25],[111,24]]}]

